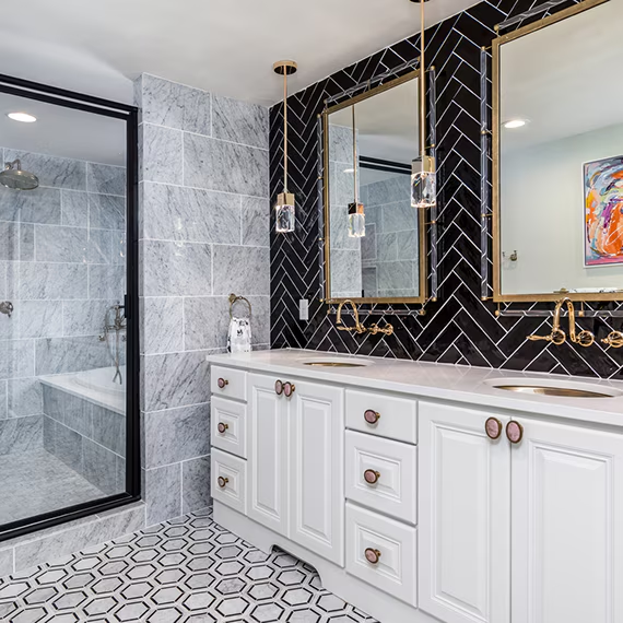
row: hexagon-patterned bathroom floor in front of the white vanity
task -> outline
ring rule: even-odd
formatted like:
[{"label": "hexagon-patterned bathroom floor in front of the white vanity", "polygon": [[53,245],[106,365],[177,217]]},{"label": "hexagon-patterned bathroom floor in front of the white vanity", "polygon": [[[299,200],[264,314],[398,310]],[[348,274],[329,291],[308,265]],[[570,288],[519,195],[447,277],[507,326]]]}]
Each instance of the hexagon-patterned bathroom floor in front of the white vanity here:
[{"label": "hexagon-patterned bathroom floor in front of the white vanity", "polygon": [[0,621],[374,623],[291,555],[193,513],[0,580]]}]

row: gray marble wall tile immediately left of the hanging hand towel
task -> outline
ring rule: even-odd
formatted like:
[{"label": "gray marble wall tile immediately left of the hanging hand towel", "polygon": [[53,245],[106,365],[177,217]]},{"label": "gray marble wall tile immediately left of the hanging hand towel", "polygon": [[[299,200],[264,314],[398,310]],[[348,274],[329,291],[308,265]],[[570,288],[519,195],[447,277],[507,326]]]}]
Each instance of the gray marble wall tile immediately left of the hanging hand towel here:
[{"label": "gray marble wall tile immediately left of the hanging hand towel", "polygon": [[226,348],[228,326],[230,302],[226,296],[184,299],[184,343],[187,350]]}]

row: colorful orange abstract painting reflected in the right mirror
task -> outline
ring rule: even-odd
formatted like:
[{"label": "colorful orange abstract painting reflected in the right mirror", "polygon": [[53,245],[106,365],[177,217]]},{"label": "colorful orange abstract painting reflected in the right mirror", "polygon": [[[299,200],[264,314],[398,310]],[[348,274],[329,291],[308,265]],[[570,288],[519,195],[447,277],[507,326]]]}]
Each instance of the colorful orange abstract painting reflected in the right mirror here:
[{"label": "colorful orange abstract painting reflected in the right mirror", "polygon": [[587,267],[623,263],[623,156],[584,165]]}]

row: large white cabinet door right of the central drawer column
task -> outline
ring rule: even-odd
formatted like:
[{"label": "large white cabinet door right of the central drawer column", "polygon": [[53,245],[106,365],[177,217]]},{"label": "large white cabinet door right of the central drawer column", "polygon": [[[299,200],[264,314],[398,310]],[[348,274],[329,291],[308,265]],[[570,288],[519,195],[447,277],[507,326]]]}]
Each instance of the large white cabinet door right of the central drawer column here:
[{"label": "large white cabinet door right of the central drawer column", "polygon": [[510,444],[492,415],[506,423],[420,403],[419,604],[445,623],[510,619]]}]

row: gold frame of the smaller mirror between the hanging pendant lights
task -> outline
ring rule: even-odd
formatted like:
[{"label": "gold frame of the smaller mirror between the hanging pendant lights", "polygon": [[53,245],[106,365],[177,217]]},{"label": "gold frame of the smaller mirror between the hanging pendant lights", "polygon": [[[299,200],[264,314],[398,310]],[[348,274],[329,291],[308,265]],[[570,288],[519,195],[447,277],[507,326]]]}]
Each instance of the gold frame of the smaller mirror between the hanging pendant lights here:
[{"label": "gold frame of the smaller mirror between the hanging pendant lights", "polygon": [[[344,301],[352,301],[353,303],[416,303],[423,305],[426,302],[427,291],[428,291],[428,274],[427,274],[427,256],[428,249],[426,245],[426,210],[419,210],[419,219],[418,219],[418,239],[419,239],[419,247],[420,247],[420,255],[419,255],[419,265],[420,265],[420,295],[419,296],[410,296],[410,297],[380,297],[380,296],[358,296],[358,297],[350,297],[350,298],[336,298],[331,296],[331,222],[329,219],[329,208],[330,208],[330,188],[329,188],[329,115],[331,113],[337,113],[342,108],[348,108],[349,106],[353,106],[358,102],[363,102],[364,99],[368,99],[369,97],[374,97],[384,91],[389,91],[395,86],[399,86],[405,82],[410,82],[411,80],[419,80],[418,86],[419,89],[422,87],[422,82],[420,81],[420,70],[416,69],[414,71],[410,71],[400,78],[396,78],[395,80],[390,80],[379,86],[376,86],[369,91],[365,91],[360,95],[355,95],[344,102],[340,102],[334,106],[329,108],[325,108],[322,110],[322,213],[324,213],[324,233],[325,233],[325,303],[329,304],[339,304],[343,303]],[[420,124],[420,97],[418,97],[418,102],[414,105],[414,109],[418,114],[418,124]],[[422,132],[424,131],[423,128],[419,128],[420,130],[420,139],[422,137]],[[420,144],[418,144],[418,154],[420,153]],[[414,156],[415,157],[415,156]],[[365,207],[364,207],[365,210]],[[415,208],[413,209],[415,210]]]}]

